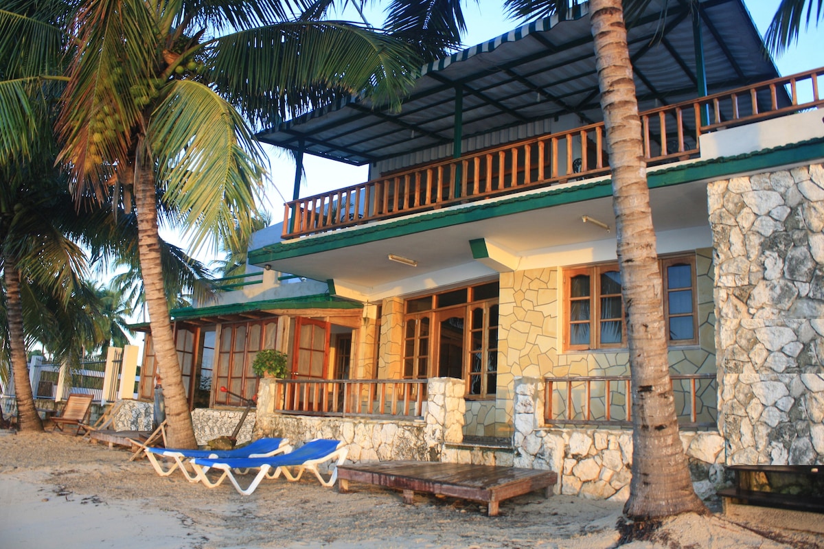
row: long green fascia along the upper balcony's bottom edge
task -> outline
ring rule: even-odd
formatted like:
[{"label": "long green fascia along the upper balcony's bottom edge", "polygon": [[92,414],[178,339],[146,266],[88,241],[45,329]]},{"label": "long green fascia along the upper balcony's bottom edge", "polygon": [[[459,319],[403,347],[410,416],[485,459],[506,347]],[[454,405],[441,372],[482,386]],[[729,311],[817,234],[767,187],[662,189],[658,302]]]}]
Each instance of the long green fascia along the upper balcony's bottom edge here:
[{"label": "long green fascia along the upper balcony's bottom edge", "polygon": [[[662,188],[694,181],[723,179],[730,174],[766,170],[779,165],[814,161],[821,158],[824,158],[824,138],[817,138],[783,147],[696,161],[670,168],[656,169],[653,167],[649,170],[647,182],[649,188]],[[428,212],[428,215],[425,216],[406,217],[381,225],[358,227],[354,231],[337,231],[311,238],[270,244],[260,249],[250,250],[249,261],[250,263],[266,263],[279,259],[319,254],[333,249],[342,249],[427,230],[481,221],[490,217],[508,216],[574,202],[606,198],[611,195],[612,180],[606,178],[575,187],[548,188],[542,193],[527,196],[522,194],[513,195],[511,198],[494,202],[471,202],[471,207],[447,208]]]}]

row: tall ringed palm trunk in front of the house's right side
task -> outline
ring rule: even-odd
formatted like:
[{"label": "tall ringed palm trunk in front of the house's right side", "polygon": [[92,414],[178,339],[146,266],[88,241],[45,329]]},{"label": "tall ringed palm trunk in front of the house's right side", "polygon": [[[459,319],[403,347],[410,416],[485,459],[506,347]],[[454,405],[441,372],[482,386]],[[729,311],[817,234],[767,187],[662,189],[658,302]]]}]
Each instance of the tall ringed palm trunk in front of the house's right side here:
[{"label": "tall ringed palm trunk in front of the house's right side", "polygon": [[633,458],[625,514],[706,512],[678,436],[638,100],[620,0],[590,2],[632,376]]}]

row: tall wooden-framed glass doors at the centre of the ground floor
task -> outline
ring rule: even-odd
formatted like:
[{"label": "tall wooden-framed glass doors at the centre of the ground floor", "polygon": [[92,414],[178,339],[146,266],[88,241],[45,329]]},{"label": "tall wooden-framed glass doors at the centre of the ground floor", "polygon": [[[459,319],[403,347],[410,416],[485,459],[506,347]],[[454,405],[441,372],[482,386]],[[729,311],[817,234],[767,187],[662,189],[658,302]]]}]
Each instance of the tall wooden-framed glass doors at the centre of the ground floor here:
[{"label": "tall wooden-framed glass doors at the centre of the ground floor", "polygon": [[467,398],[494,398],[497,281],[406,300],[403,379],[460,377]]}]

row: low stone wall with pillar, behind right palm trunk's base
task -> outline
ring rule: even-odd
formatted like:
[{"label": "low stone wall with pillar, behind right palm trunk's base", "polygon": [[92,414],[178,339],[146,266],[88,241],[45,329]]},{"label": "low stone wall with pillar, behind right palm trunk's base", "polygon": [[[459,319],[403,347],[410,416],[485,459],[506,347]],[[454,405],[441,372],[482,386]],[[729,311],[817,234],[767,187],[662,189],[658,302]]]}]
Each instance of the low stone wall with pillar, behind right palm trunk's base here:
[{"label": "low stone wall with pillar, behind right palm trunk's base", "polygon": [[[555,492],[626,500],[632,478],[632,430],[559,429],[544,425],[543,379],[515,380],[515,467],[558,473]],[[724,483],[723,438],[715,431],[682,431],[695,493],[702,499]]]}]

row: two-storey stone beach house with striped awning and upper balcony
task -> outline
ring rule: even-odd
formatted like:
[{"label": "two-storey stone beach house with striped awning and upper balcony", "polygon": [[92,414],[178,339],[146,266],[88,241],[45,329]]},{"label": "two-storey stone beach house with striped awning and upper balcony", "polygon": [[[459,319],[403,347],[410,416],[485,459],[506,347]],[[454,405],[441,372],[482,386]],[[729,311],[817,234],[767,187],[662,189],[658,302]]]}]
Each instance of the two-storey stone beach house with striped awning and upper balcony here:
[{"label": "two-storey stone beach house with striped awning and upper balcony", "polygon": [[[629,44],[695,486],[822,463],[824,69],[781,76],[742,0],[651,2]],[[422,67],[400,109],[353,97],[260,133],[370,175],[296,187],[246,275],[172,311],[199,440],[257,395],[259,435],[339,438],[355,462],[549,468],[564,493],[625,497],[599,98],[583,4]],[[253,374],[266,348],[287,379]]]}]

